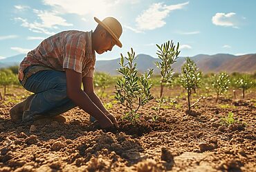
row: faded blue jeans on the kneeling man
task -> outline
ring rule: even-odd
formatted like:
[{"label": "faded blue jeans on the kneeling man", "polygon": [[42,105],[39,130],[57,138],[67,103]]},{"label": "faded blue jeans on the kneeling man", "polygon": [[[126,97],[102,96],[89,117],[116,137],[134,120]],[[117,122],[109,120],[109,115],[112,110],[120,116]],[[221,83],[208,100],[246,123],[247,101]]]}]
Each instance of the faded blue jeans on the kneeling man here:
[{"label": "faded blue jeans on the kneeling man", "polygon": [[66,94],[65,72],[40,71],[30,76],[23,86],[35,93],[29,109],[24,111],[24,122],[33,120],[35,115],[57,116],[76,107]]}]

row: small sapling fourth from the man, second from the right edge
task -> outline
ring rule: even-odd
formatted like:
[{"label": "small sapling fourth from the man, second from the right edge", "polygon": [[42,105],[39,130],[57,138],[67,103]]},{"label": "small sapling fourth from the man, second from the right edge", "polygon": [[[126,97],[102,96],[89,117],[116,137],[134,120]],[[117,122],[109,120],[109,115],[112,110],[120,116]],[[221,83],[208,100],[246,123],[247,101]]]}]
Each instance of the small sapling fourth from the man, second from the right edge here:
[{"label": "small sapling fourth from the man, second from the right edge", "polygon": [[214,75],[214,80],[212,87],[217,94],[216,103],[219,100],[219,96],[224,92],[227,92],[228,86],[230,85],[230,80],[228,74],[221,72],[219,75]]}]

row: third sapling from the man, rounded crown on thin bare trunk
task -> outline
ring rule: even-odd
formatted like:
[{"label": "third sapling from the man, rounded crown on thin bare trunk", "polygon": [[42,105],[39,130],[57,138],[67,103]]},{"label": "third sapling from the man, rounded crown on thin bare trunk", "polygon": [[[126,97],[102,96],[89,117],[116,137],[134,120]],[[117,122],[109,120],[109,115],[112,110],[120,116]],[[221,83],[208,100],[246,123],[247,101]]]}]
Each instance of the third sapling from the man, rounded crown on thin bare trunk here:
[{"label": "third sapling from the man, rounded crown on thin bare trunk", "polygon": [[186,58],[185,64],[181,67],[180,82],[181,85],[187,89],[188,94],[188,110],[190,111],[190,96],[192,89],[199,87],[201,83],[201,72],[196,67],[196,63],[189,57]]}]

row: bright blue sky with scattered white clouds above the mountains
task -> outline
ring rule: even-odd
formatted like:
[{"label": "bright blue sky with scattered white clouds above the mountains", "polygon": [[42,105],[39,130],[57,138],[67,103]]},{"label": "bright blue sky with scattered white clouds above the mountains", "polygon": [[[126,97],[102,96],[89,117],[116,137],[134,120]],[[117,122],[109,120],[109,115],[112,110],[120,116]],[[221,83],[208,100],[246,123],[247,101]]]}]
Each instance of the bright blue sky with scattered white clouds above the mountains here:
[{"label": "bright blue sky with scattered white clouds above the mountains", "polygon": [[123,47],[97,55],[156,57],[156,43],[179,41],[181,56],[256,52],[256,1],[247,0],[8,0],[0,2],[0,58],[26,53],[63,30],[94,30],[93,17],[115,17]]}]

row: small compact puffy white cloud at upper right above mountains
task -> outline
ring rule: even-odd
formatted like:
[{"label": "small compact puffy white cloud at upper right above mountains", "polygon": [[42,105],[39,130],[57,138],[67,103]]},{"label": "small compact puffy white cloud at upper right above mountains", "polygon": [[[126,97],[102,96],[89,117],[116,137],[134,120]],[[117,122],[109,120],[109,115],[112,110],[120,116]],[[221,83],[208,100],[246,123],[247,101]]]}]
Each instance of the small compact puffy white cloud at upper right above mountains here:
[{"label": "small compact puffy white cloud at upper right above mountains", "polygon": [[244,17],[238,17],[235,12],[229,12],[227,14],[223,12],[217,12],[212,17],[212,23],[214,25],[230,26],[232,28],[239,28],[238,25],[244,20]]}]

